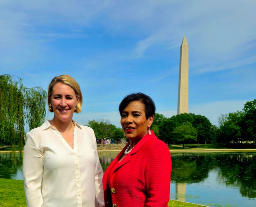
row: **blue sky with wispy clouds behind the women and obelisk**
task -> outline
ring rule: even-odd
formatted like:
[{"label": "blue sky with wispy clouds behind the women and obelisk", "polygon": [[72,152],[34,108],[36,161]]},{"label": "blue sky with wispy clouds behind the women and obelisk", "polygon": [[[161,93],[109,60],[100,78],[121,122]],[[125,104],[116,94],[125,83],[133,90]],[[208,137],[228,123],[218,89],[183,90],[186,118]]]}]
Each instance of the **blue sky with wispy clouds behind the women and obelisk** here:
[{"label": "blue sky with wispy clouds behind the women and obelisk", "polygon": [[[189,44],[189,112],[218,126],[256,98],[255,0],[0,1],[0,74],[47,90],[68,74],[80,84],[80,124],[108,119],[133,92],[177,114],[180,45]],[[53,114],[47,112],[47,119]]]}]

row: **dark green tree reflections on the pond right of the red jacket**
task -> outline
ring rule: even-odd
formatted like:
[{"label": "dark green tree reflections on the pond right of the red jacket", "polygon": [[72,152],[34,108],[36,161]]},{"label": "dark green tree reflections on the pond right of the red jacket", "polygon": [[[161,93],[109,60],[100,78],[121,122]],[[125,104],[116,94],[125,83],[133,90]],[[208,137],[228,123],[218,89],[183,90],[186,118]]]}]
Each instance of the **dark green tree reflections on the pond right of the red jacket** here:
[{"label": "dark green tree reflections on the pond right of the red jacket", "polygon": [[209,171],[218,172],[218,182],[239,187],[243,197],[256,197],[256,154],[243,153],[177,153],[172,154],[172,182],[191,184],[204,181]]}]

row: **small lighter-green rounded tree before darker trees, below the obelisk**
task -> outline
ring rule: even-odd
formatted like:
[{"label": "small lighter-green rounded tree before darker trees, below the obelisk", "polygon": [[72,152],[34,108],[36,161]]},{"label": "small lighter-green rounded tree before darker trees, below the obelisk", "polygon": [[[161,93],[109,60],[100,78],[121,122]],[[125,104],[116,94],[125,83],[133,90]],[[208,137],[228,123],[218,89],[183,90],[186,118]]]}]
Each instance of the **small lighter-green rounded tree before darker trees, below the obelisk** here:
[{"label": "small lighter-green rounded tree before darker trees, below the obelisk", "polygon": [[197,131],[189,121],[177,126],[172,133],[174,134],[174,139],[183,144],[183,148],[185,147],[185,142],[197,140]]}]

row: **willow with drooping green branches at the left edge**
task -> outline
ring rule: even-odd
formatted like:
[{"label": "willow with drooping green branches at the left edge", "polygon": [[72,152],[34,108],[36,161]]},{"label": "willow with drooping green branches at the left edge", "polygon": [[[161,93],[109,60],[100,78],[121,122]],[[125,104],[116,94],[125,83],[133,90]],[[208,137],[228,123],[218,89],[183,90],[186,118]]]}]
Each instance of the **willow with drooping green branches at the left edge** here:
[{"label": "willow with drooping green branches at the left edge", "polygon": [[25,124],[29,130],[45,120],[47,93],[41,87],[25,88],[19,77],[0,75],[0,145],[24,144]]}]

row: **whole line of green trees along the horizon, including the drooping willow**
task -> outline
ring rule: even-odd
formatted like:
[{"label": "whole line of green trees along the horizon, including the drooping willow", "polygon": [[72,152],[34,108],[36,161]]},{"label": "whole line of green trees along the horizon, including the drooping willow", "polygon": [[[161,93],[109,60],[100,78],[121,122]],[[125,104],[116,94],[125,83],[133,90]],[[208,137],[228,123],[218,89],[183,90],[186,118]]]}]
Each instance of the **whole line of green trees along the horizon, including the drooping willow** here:
[{"label": "whole line of green trees along the horizon, including the drooping willow", "polygon": [[[24,146],[25,124],[29,130],[43,124],[46,117],[47,92],[42,87],[26,88],[22,79],[0,75],[0,146]],[[202,115],[184,113],[170,118],[155,114],[152,129],[166,144],[235,144],[256,141],[256,99],[245,103],[242,111],[221,114],[219,126]],[[108,119],[89,120],[97,138],[124,138],[122,129]]]}]

